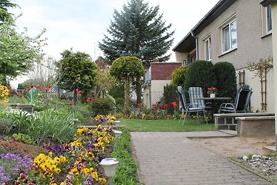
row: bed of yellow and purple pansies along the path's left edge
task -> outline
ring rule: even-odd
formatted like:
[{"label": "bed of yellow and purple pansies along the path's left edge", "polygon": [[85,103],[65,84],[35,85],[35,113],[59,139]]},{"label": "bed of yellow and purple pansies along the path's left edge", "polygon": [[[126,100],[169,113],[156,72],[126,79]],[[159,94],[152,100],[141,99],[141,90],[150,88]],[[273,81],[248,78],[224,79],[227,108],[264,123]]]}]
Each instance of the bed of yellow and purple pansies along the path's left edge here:
[{"label": "bed of yellow and purple pansies along the path's left edge", "polygon": [[[2,184],[105,184],[99,162],[113,140],[111,128],[80,128],[71,143],[57,145],[47,155],[39,154],[26,167],[29,170],[21,171],[17,178],[1,178]],[[6,164],[3,157],[0,161]]]}]

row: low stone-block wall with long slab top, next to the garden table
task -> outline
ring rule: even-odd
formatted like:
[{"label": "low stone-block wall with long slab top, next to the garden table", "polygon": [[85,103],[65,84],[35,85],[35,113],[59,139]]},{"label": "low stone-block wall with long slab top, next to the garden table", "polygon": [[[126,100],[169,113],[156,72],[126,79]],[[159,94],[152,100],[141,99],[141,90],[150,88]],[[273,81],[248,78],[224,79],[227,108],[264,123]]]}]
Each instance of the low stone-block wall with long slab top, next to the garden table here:
[{"label": "low stone-block wall with long slab top, next to the garden table", "polygon": [[215,127],[217,129],[237,130],[238,117],[256,117],[256,116],[274,116],[274,113],[230,113],[230,114],[214,114]]}]

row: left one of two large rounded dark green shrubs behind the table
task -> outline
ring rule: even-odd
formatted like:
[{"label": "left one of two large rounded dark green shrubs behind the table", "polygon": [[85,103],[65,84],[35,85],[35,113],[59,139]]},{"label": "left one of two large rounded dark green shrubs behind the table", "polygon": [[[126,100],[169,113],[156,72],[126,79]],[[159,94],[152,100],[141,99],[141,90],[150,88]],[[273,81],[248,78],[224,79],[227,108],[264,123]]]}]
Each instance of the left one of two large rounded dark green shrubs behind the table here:
[{"label": "left one of two large rounded dark green shrubs behind the table", "polygon": [[204,96],[208,87],[216,85],[213,64],[206,60],[198,60],[191,63],[186,70],[184,91],[189,87],[202,87]]}]

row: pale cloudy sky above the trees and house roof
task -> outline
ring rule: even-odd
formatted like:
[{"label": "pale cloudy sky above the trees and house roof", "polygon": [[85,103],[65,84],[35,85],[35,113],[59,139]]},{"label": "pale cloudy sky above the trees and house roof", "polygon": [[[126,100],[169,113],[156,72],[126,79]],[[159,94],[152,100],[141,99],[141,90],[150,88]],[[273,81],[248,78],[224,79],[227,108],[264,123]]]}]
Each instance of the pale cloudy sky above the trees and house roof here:
[{"label": "pale cloudy sky above the trees and house roof", "polygon": [[[114,10],[122,10],[128,0],[14,0],[20,8],[10,10],[17,19],[19,30],[28,28],[27,35],[35,37],[46,28],[44,37],[47,46],[46,55],[60,60],[62,51],[73,49],[91,55],[93,60],[102,55],[98,48],[107,34]],[[174,42],[168,51],[172,53],[170,62],[175,62],[172,49],[183,39],[206,13],[219,0],[144,0],[149,6],[159,6],[166,25],[172,24],[175,30]],[[102,55],[103,56],[103,55]],[[18,82],[26,80],[19,77],[11,82],[17,87]]]}]

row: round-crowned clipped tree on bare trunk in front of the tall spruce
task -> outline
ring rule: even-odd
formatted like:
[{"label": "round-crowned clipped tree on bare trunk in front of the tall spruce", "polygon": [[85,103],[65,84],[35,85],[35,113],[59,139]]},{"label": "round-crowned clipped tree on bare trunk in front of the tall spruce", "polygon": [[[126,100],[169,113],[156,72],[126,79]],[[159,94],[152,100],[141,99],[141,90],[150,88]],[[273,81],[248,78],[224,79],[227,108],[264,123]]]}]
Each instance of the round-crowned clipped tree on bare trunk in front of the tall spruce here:
[{"label": "round-crowned clipped tree on bare trunk in front of the tall spruce", "polygon": [[118,80],[124,80],[125,107],[129,107],[129,86],[134,78],[143,76],[143,63],[136,57],[121,57],[111,64],[112,76]]}]

